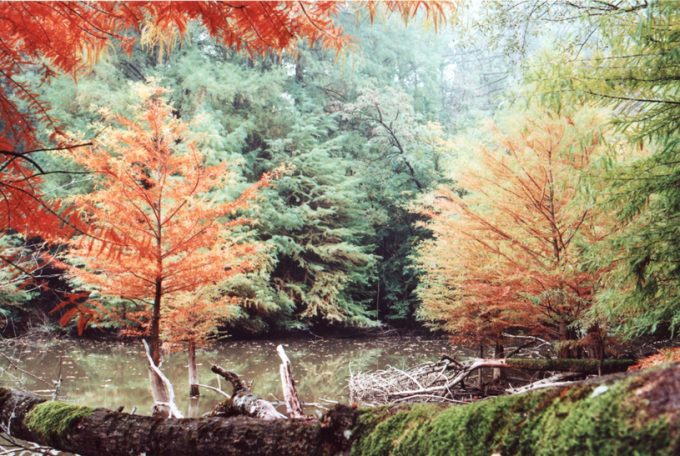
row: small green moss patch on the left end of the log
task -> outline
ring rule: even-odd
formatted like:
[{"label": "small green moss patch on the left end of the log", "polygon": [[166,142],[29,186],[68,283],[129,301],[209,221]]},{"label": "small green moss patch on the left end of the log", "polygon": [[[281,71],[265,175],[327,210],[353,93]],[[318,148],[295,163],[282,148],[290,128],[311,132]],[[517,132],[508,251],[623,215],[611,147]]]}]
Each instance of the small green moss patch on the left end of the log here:
[{"label": "small green moss patch on the left end of the log", "polygon": [[94,409],[64,402],[42,402],[26,415],[24,424],[36,434],[52,441],[59,441],[64,433],[78,420],[89,416]]}]

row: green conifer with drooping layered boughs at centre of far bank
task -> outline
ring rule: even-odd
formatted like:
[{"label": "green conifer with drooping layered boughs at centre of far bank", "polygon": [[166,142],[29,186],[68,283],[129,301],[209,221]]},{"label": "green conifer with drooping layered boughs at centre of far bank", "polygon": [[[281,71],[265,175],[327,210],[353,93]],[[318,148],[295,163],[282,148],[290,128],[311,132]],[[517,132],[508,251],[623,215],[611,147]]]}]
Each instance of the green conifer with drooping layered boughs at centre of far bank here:
[{"label": "green conifer with drooping layered boughs at centre of far bank", "polygon": [[269,142],[275,160],[293,169],[258,215],[274,246],[269,293],[302,323],[371,324],[363,305],[375,264],[370,209],[357,198],[360,180],[333,134],[335,118],[304,110]]}]

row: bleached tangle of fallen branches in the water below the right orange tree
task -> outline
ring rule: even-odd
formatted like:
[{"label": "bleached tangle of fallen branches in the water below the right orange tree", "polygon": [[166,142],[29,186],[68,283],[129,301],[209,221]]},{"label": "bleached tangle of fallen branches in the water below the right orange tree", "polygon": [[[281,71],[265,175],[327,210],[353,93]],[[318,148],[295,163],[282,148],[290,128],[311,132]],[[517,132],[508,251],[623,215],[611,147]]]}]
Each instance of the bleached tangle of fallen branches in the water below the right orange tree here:
[{"label": "bleached tangle of fallen branches in the water below the right orange tree", "polygon": [[[590,359],[524,359],[473,358],[459,363],[444,357],[409,370],[388,367],[350,376],[352,401],[363,405],[384,405],[401,402],[469,402],[480,395],[478,388],[465,385],[465,380],[482,368],[518,369],[545,372],[571,372],[583,375],[621,372],[632,360]],[[476,397],[475,397],[476,398]]]}]

